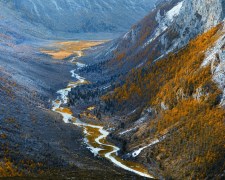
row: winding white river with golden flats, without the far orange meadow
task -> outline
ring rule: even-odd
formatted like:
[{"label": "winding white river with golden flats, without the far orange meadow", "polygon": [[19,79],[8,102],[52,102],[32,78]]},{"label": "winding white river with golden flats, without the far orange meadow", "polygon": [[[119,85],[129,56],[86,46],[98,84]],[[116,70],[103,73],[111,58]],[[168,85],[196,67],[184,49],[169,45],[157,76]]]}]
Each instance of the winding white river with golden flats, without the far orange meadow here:
[{"label": "winding white river with golden flats, without the far orange meadow", "polygon": [[[84,66],[84,64],[77,62],[77,68],[82,68]],[[87,83],[85,78],[76,74],[75,71],[76,70],[72,70],[70,72],[72,78],[74,78],[74,81],[70,82],[66,88],[61,89],[57,92],[59,96],[56,100],[53,101],[52,110],[61,114],[65,123],[72,123],[75,126],[81,127],[83,129],[83,133],[85,136],[84,142],[87,144],[87,148],[90,149],[90,151],[95,156],[104,157],[116,166],[123,168],[127,171],[136,173],[140,176],[154,178],[148,173],[147,169],[144,168],[144,166],[138,163],[121,159],[117,155],[120,149],[115,145],[107,142],[106,138],[109,135],[109,132],[104,130],[102,126],[87,124],[80,121],[78,118],[73,116],[73,113],[70,108],[65,107],[68,102],[68,94],[71,89]]]}]

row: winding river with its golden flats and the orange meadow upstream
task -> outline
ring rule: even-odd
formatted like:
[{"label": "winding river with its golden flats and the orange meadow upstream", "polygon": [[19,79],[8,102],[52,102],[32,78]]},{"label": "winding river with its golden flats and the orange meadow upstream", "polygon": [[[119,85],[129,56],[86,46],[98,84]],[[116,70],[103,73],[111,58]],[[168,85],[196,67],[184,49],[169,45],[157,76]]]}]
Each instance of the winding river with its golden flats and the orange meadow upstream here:
[{"label": "winding river with its golden flats and the orange meadow upstream", "polygon": [[[93,122],[84,123],[82,120],[80,121],[80,119],[78,119],[76,116],[73,116],[71,108],[68,107],[70,100],[69,93],[71,90],[78,86],[92,83],[91,79],[87,81],[85,78],[75,73],[76,71],[86,67],[85,64],[79,62],[79,58],[84,56],[84,50],[90,49],[91,47],[100,45],[104,42],[105,41],[59,42],[53,45],[52,50],[42,50],[43,53],[52,56],[54,59],[64,61],[65,59],[68,59],[68,62],[75,65],[75,69],[70,71],[72,78],[74,78],[73,81],[70,81],[66,88],[57,91],[59,96],[55,101],[53,101],[52,110],[61,114],[65,123],[71,123],[83,129],[83,134],[85,136],[84,143],[87,144],[87,148],[90,149],[90,151],[95,156],[105,158],[106,160],[111,161],[112,164],[127,171],[136,173],[140,176],[153,178],[153,176],[150,175],[147,169],[141,164],[125,161],[118,156],[120,148],[114,146],[112,143],[107,142],[106,139],[109,135],[109,132],[104,130],[103,126],[100,126],[99,124],[93,125]],[[55,50],[54,46],[57,47]],[[92,110],[94,107],[89,107],[88,109]],[[81,113],[82,111],[80,114]]]}]

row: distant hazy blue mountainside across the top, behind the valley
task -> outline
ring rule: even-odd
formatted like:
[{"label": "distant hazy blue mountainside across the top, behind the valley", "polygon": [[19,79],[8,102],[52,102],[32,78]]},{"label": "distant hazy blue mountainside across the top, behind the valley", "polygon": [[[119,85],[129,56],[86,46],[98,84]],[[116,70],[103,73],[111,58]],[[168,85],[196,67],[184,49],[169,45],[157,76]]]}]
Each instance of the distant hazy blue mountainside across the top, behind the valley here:
[{"label": "distant hazy blue mountainside across the top, behind the valley", "polygon": [[12,10],[52,31],[125,32],[158,0],[1,0]]}]

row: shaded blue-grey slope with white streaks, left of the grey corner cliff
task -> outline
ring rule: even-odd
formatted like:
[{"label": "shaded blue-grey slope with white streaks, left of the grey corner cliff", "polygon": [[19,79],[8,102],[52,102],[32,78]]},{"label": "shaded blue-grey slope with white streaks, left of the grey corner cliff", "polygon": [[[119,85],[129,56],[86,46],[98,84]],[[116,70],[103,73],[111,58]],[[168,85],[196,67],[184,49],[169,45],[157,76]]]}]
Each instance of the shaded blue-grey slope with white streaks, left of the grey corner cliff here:
[{"label": "shaded blue-grey slope with white streaks, left of the grey corner cliff", "polygon": [[[108,63],[105,67],[111,66],[112,69],[126,72],[144,65],[150,55],[153,61],[166,52],[172,51],[174,48],[171,44],[178,36],[172,30],[172,26],[182,4],[181,0],[160,3],[129,32],[113,41],[108,49],[97,54],[96,60],[105,61],[106,59]],[[167,39],[171,44],[165,43]]]}]

